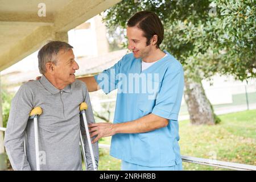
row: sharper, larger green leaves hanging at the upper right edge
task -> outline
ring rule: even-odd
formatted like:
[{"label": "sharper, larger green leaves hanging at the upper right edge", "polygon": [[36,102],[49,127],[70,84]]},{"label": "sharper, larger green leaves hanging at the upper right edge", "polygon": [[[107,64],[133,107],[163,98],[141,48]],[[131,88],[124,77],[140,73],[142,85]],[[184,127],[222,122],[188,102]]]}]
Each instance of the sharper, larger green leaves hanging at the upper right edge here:
[{"label": "sharper, larger green leaves hanging at the upper right edge", "polygon": [[219,55],[217,71],[235,75],[239,80],[256,77],[255,1],[213,2],[217,15],[207,21],[204,40],[211,40],[210,48]]}]

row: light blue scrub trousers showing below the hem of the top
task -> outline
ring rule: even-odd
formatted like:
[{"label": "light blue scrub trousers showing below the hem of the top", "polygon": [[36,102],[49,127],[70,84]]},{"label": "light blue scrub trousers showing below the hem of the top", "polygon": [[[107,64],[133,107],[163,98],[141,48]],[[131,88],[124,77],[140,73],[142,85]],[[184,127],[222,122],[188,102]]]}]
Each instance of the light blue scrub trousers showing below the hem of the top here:
[{"label": "light blue scrub trousers showing below the hem of the top", "polygon": [[148,167],[148,166],[139,166],[137,164],[132,164],[122,160],[121,164],[122,171],[182,171],[182,163],[175,166],[168,167]]}]

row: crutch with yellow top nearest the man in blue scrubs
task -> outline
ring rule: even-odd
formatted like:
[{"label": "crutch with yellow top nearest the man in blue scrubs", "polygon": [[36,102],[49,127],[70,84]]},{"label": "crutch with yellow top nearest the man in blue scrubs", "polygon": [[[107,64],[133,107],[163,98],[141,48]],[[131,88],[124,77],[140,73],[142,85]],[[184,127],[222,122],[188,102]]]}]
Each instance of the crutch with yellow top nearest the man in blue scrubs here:
[{"label": "crutch with yellow top nearest the man in blue scrubs", "polygon": [[[80,114],[82,114],[82,120],[84,121],[84,127],[85,127],[87,141],[88,141],[88,144],[89,144],[89,150],[90,150],[90,156],[92,158],[93,169],[94,169],[94,171],[97,171],[97,167],[96,167],[95,159],[94,159],[94,154],[93,154],[93,149],[92,149],[92,141],[90,140],[90,133],[89,133],[89,129],[88,129],[87,120],[86,120],[86,117],[85,117],[85,110],[87,108],[88,108],[88,106],[85,102],[82,102],[80,104]],[[83,156],[84,162],[86,164],[84,140],[82,140],[81,131],[80,131],[80,142],[81,142],[81,146],[82,146],[82,156]]]}]

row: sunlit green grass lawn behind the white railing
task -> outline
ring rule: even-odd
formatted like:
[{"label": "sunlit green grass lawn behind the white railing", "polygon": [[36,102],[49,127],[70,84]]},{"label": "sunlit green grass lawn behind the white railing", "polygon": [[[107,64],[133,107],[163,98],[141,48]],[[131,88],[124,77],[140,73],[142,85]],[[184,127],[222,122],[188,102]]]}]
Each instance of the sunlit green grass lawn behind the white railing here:
[{"label": "sunlit green grass lawn behind the white railing", "polygon": [[[193,126],[180,122],[181,155],[256,165],[256,110],[219,115],[215,126]],[[109,144],[110,138],[100,143]],[[99,170],[120,170],[121,161],[100,149]],[[226,170],[183,163],[184,170]]]}]

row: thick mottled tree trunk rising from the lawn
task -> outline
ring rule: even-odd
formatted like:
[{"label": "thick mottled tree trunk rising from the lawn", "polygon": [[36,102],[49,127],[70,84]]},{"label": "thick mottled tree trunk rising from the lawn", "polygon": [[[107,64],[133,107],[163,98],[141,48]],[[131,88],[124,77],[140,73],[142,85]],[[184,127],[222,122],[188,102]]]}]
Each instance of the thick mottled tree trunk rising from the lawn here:
[{"label": "thick mottled tree trunk rising from the lawn", "polygon": [[184,99],[193,125],[214,125],[216,123],[216,115],[205,95],[201,80],[195,81],[185,78]]}]

